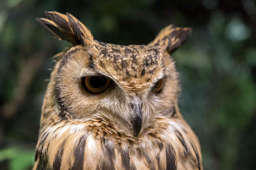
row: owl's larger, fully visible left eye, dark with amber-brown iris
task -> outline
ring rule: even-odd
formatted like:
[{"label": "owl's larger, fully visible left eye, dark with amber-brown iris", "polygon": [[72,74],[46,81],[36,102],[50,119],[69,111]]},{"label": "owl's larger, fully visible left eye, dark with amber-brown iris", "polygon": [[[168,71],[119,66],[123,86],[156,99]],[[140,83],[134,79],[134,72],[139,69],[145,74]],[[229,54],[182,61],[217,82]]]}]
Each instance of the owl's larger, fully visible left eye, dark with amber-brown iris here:
[{"label": "owl's larger, fully visible left eye, dark with amber-brown iris", "polygon": [[91,93],[103,92],[109,87],[110,78],[103,76],[88,76],[82,78],[82,86]]}]

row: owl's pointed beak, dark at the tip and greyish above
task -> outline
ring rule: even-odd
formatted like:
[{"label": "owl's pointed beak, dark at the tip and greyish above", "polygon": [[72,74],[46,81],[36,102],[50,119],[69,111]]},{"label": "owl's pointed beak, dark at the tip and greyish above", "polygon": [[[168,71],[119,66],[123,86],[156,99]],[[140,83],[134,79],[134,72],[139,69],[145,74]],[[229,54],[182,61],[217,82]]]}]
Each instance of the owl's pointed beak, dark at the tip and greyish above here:
[{"label": "owl's pointed beak, dark at the tip and greyish above", "polygon": [[138,134],[140,133],[140,129],[142,125],[141,107],[142,107],[142,100],[136,96],[135,98],[133,98],[131,102],[131,108],[133,112],[132,125],[133,125],[135,136],[138,136]]}]

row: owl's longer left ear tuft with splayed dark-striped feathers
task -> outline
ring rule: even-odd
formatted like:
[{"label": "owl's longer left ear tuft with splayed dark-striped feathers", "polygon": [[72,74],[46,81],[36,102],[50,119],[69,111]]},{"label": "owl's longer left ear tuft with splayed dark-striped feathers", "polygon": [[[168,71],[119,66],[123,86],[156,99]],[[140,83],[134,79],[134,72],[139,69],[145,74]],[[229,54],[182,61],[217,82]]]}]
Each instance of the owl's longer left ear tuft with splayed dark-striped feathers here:
[{"label": "owl's longer left ear tuft with splayed dark-striped feathers", "polygon": [[46,16],[49,19],[36,18],[36,20],[56,38],[67,40],[73,45],[84,45],[87,42],[86,40],[93,41],[90,30],[73,15],[52,11],[46,12]]}]

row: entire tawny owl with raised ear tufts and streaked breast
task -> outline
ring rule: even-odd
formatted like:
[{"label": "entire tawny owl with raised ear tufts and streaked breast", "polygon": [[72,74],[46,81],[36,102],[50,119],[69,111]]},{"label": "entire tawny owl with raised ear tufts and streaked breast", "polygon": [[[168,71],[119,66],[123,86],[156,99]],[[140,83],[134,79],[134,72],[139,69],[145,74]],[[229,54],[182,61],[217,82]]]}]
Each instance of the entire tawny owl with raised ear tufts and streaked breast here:
[{"label": "entire tawny owl with raised ear tufts and streaked breast", "polygon": [[170,56],[191,34],[169,25],[147,45],[99,42],[73,15],[37,18],[73,46],[51,72],[33,169],[203,169],[178,107]]}]

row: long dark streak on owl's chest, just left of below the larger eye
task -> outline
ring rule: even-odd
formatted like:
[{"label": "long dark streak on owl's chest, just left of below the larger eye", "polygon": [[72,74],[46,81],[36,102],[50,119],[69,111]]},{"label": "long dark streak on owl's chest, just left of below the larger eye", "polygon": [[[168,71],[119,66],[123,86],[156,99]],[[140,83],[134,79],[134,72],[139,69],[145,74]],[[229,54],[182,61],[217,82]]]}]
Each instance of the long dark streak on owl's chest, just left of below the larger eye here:
[{"label": "long dark streak on owl's chest, just left of below the larger eye", "polygon": [[83,135],[79,139],[79,143],[74,150],[75,161],[71,170],[83,169],[84,147],[86,146],[86,139],[88,135]]}]

